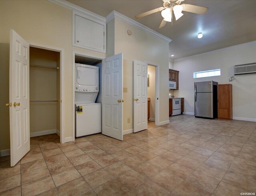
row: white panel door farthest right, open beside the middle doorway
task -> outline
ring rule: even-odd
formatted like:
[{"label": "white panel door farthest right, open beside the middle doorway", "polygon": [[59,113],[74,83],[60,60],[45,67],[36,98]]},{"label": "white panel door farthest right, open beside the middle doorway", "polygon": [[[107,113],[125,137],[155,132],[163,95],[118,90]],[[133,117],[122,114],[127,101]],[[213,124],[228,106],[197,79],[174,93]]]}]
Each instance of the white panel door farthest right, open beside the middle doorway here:
[{"label": "white panel door farthest right, open beside the middle doorway", "polygon": [[148,64],[133,62],[133,132],[148,128]]}]

